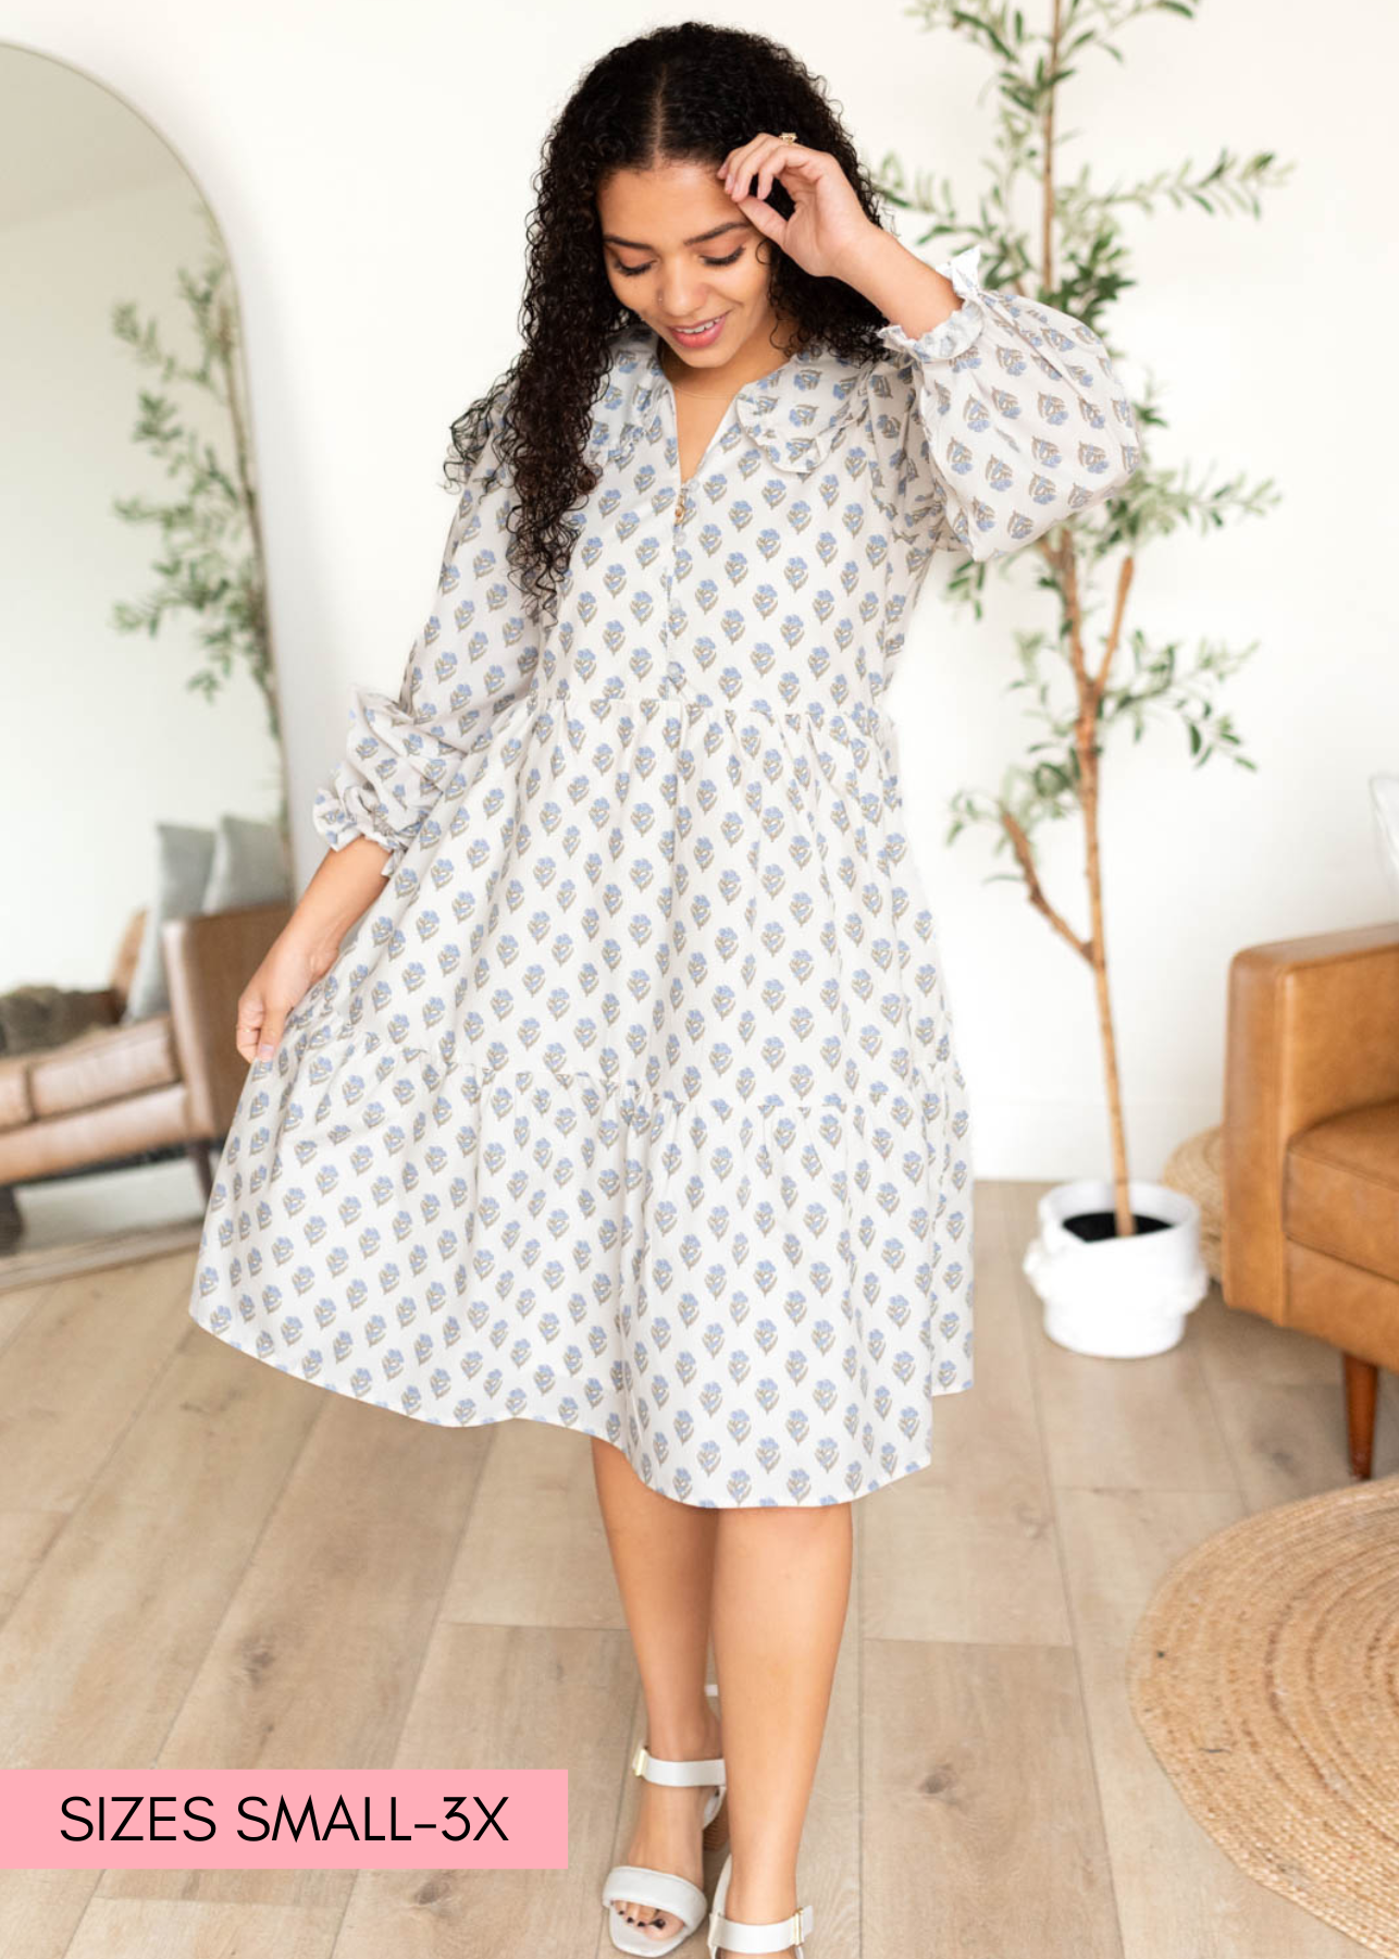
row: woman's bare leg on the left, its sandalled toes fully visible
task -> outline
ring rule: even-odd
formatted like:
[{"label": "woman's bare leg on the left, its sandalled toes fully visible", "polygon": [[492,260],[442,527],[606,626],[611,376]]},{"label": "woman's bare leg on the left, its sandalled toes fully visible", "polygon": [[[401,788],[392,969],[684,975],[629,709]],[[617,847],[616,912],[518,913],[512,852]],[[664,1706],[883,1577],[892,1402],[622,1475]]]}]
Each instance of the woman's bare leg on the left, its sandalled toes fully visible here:
[{"label": "woman's bare leg on the left, its sandalled toes fully visible", "polygon": [[[647,1698],[647,1749],[670,1761],[721,1755],[719,1722],[703,1691],[713,1546],[721,1512],[647,1489],[623,1452],[596,1436],[592,1467]],[[674,1871],[692,1885],[703,1885],[700,1820],[713,1785],[666,1789],[643,1777],[635,1781],[641,1806],[621,1861]],[[680,1930],[674,1912],[633,1900],[619,1902],[631,1924],[656,1941]]]}]

